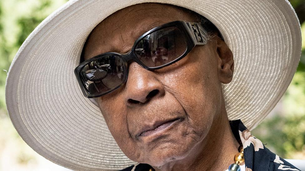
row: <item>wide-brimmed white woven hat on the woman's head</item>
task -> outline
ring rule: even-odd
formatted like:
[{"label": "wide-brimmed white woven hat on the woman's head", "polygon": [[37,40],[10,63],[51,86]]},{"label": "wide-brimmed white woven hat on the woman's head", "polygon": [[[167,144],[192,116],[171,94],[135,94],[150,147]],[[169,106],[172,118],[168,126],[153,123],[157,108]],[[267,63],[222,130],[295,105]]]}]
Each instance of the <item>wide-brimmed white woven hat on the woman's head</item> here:
[{"label": "wide-brimmed white woven hat on the woman's head", "polygon": [[45,158],[75,170],[122,169],[120,150],[73,70],[89,33],[112,13],[143,2],[188,8],[217,26],[234,55],[223,86],[228,117],[252,129],[287,89],[301,53],[301,31],[287,0],[70,0],[25,40],[9,69],[6,103],[23,140]]}]

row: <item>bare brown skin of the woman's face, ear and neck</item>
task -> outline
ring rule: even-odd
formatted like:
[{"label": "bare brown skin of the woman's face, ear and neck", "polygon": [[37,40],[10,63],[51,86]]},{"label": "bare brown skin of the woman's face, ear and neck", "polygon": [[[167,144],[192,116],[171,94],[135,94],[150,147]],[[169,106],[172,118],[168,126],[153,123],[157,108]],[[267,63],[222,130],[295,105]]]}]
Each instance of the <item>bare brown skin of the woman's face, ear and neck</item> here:
[{"label": "bare brown skin of the woman's face, ear and neck", "polygon": [[[192,13],[166,4],[124,8],[92,31],[84,58],[126,53],[144,32],[175,20],[197,22]],[[119,147],[128,158],[156,170],[226,170],[239,146],[221,88],[232,80],[233,63],[231,50],[218,36],[162,69],[148,71],[131,63],[127,83],[97,99]],[[153,90],[157,93],[147,98]],[[172,119],[177,120],[161,132],[139,135],[156,121]]]}]

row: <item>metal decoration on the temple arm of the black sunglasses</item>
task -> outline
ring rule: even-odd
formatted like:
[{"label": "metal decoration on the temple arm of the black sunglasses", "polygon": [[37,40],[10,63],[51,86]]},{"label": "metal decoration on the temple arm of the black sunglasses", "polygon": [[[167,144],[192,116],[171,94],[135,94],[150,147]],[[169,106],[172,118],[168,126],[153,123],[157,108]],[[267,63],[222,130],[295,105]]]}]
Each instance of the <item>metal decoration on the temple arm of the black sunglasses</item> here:
[{"label": "metal decoration on the temple arm of the black sunglasses", "polygon": [[187,25],[191,29],[192,35],[198,45],[207,44],[207,31],[202,26],[198,26],[195,22],[187,22]]}]

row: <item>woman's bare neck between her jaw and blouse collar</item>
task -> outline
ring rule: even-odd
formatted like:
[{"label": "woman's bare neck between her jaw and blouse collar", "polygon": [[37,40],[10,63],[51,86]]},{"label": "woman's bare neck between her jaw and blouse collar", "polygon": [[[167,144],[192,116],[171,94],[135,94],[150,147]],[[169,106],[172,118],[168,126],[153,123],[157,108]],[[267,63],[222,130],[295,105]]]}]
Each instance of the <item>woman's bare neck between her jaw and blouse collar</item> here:
[{"label": "woman's bare neck between her jaw and blouse collar", "polygon": [[185,158],[163,165],[156,171],[176,170],[226,170],[234,163],[234,155],[238,153],[238,142],[235,139],[227,118],[227,112],[223,107],[221,114],[212,122],[207,136],[197,143],[193,150]]}]

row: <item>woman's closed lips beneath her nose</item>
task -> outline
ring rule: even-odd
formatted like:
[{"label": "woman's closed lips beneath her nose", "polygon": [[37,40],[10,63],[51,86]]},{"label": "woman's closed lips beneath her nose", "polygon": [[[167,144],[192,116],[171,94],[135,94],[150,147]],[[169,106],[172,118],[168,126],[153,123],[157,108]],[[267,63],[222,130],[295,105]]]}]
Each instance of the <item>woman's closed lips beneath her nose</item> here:
[{"label": "woman's closed lips beneath her nose", "polygon": [[172,120],[156,122],[153,126],[146,127],[140,134],[136,135],[136,138],[140,138],[142,136],[153,135],[157,132],[161,132],[168,127],[172,126],[174,123],[181,121],[181,118],[175,118]]}]

